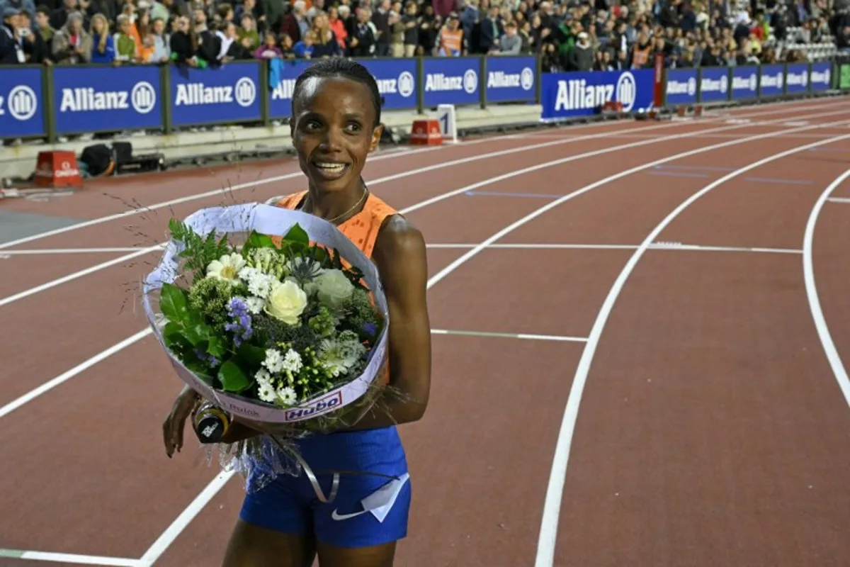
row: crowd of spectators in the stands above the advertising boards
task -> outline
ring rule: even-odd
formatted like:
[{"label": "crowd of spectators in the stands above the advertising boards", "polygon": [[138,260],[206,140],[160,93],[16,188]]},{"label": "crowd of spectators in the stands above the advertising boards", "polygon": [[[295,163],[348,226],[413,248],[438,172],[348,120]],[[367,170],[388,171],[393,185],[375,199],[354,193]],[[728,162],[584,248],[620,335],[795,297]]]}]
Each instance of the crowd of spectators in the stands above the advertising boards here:
[{"label": "crowd of spectators in the stands above the advertising boards", "polygon": [[544,71],[591,71],[850,48],[841,0],[615,1],[0,0],[0,65],[541,54]]}]

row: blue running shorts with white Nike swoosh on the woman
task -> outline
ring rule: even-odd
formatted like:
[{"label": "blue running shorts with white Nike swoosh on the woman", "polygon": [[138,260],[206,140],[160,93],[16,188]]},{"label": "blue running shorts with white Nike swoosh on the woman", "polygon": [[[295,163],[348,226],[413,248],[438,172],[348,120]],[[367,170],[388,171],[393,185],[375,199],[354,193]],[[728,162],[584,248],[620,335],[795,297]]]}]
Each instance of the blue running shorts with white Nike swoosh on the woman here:
[{"label": "blue running shorts with white Nike swoosh on the woman", "polygon": [[[377,474],[340,474],[337,496],[327,503],[319,500],[303,471],[297,477],[280,474],[246,494],[242,521],[290,534],[312,533],[317,541],[335,547],[377,546],[407,536],[411,481],[395,426],[316,435],[297,444],[326,497],[331,495],[333,471]],[[371,502],[381,498],[384,506],[365,510],[364,499],[371,508]]]}]

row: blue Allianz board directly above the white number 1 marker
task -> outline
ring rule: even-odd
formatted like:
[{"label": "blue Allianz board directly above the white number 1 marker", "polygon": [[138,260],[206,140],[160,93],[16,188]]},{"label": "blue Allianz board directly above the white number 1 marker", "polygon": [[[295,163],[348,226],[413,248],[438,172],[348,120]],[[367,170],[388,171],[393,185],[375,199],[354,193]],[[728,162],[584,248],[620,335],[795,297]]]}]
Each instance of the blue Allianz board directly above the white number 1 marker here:
[{"label": "blue Allianz board directly above the white number 1 marker", "polygon": [[474,105],[479,93],[478,58],[428,57],[422,60],[425,106]]}]

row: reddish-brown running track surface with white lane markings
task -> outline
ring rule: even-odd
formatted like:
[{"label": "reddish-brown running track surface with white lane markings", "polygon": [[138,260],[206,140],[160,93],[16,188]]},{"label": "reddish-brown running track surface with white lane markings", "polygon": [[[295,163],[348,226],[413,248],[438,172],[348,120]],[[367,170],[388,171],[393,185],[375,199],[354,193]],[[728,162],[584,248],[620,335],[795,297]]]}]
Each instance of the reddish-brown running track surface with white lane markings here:
[{"label": "reddish-brown running track surface with white lane markings", "polygon": [[[433,336],[431,407],[401,428],[414,501],[397,564],[850,564],[846,374],[823,343],[850,356],[850,202],[826,201],[817,218],[816,288],[803,271],[810,213],[850,167],[850,101],[730,114],[753,122],[613,122],[370,163],[372,190],[395,207],[456,192],[408,213],[429,245],[467,245],[428,251],[435,329],[577,339]],[[542,146],[521,151],[530,145]],[[791,151],[807,145],[818,146]],[[2,207],[95,219],[127,201],[295,172],[292,160],[174,171]],[[498,176],[479,195],[461,190]],[[158,344],[144,337],[102,356],[146,327],[135,282],[156,252],[67,281],[128,252],[20,252],[150,246],[170,214],[302,183],[293,175],[0,245],[0,548],[218,564],[241,479],[193,503],[218,468],[201,463],[194,440],[164,454],[161,419],[180,383]],[[850,182],[832,196],[850,197]],[[484,241],[494,246],[474,247]],[[508,246],[520,244],[530,246]],[[737,249],[753,247],[782,250]],[[813,295],[828,328],[815,323]],[[0,552],[0,565],[27,563]]]}]

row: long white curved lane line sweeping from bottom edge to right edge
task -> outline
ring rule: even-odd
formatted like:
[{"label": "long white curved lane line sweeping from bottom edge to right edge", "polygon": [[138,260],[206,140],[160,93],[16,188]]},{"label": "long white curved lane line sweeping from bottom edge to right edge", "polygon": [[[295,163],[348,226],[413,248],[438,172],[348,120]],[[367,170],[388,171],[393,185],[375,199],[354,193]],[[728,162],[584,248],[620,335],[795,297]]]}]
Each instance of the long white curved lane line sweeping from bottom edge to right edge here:
[{"label": "long white curved lane line sweeping from bottom edge to right edge", "polygon": [[672,223],[673,219],[677,218],[677,216],[693,204],[694,201],[699,199],[701,196],[706,195],[706,193],[718,185],[726,183],[729,179],[733,179],[742,173],[755,169],[756,167],[762,167],[767,163],[808,150],[809,148],[835,143],[844,139],[850,139],[850,134],[836,136],[832,139],[821,140],[812,144],[801,145],[796,148],[792,148],[791,150],[779,152],[773,156],[753,162],[748,166],[740,167],[740,169],[736,169],[734,172],[728,173],[722,178],[711,182],[711,184],[706,185],[703,189],[694,193],[694,195],[690,196],[678,207],[673,209],[666,218],[655,226],[655,229],[652,230],[652,232],[650,232],[643,240],[643,243],[640,247],[638,247],[638,250],[636,250],[632,254],[632,257],[628,259],[626,265],[620,272],[620,275],[617,276],[614,285],[611,286],[608,296],[602,304],[602,308],[599,309],[599,313],[596,320],[593,322],[590,336],[588,337],[587,343],[585,343],[585,348],[582,350],[581,359],[579,360],[578,367],[575,371],[572,388],[570,388],[570,395],[567,399],[566,407],[564,408],[564,419],[561,422],[561,428],[558,431],[558,442],[555,446],[552,472],[549,476],[549,484],[547,486],[546,498],[543,505],[543,517],[541,519],[540,538],[537,542],[535,567],[552,567],[554,564],[555,541],[558,536],[558,518],[564,496],[564,480],[566,479],[567,465],[570,459],[570,447],[572,446],[573,435],[575,434],[575,422],[578,417],[579,405],[581,404],[581,395],[584,392],[584,387],[587,383],[587,375],[590,371],[593,355],[596,354],[599,337],[602,335],[605,323],[608,321],[608,317],[611,313],[611,309],[614,308],[614,303],[619,297],[623,286],[626,284],[626,280],[629,275],[632,274],[632,270],[635,265],[638,264],[638,260],[643,256],[643,253],[649,249],[650,244],[655,241],[661,231],[666,229],[666,227]]}]

